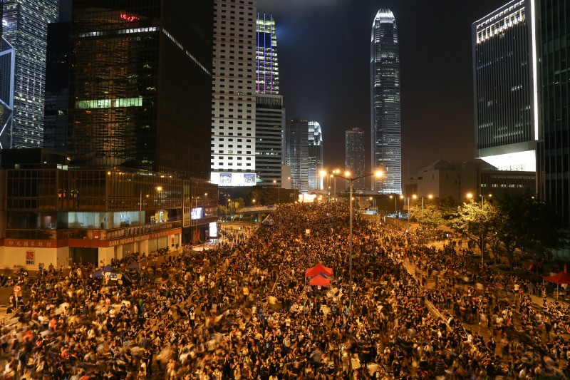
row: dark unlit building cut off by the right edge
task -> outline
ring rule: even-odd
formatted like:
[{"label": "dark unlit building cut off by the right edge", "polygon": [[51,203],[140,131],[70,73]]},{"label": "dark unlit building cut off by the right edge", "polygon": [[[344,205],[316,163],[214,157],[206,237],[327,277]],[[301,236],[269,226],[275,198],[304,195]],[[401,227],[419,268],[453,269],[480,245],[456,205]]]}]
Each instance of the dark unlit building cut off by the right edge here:
[{"label": "dark unlit building cut off by the right edge", "polygon": [[[544,200],[570,220],[570,0],[541,1]],[[564,42],[566,41],[566,42]]]}]

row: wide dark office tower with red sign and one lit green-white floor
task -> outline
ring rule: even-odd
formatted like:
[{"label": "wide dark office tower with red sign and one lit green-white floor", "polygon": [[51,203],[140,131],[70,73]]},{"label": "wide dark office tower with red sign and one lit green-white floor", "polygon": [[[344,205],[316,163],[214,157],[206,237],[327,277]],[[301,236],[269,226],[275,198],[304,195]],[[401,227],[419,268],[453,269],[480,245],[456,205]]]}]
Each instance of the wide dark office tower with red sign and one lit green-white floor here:
[{"label": "wide dark office tower with red sign and one lit green-white floor", "polygon": [[209,179],[213,5],[73,1],[73,164]]}]

